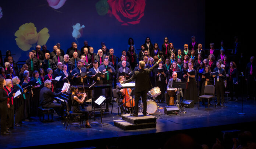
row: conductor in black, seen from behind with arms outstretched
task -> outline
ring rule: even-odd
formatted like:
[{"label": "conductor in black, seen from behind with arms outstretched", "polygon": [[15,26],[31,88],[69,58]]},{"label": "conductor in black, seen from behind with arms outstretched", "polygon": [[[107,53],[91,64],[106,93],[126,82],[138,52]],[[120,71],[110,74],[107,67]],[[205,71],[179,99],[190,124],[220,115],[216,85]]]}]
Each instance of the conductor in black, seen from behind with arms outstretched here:
[{"label": "conductor in black, seen from behind with arms outstretched", "polygon": [[147,91],[152,87],[152,84],[149,80],[149,73],[158,66],[162,60],[159,59],[156,64],[150,68],[144,68],[145,62],[143,60],[139,61],[139,70],[134,72],[131,78],[126,81],[120,81],[120,83],[128,83],[132,80],[135,80],[135,109],[134,113],[131,116],[138,116],[138,105],[139,97],[141,96],[143,101],[143,116],[147,115]]}]

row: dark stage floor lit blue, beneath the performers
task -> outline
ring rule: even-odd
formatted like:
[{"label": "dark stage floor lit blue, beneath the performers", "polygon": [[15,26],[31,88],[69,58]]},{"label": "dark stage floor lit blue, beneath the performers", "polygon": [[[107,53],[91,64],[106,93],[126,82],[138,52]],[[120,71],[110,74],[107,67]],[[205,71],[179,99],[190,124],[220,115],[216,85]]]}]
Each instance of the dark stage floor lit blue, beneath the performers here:
[{"label": "dark stage floor lit blue, beneath the performers", "polygon": [[[114,104],[112,114],[111,105],[110,112],[104,113],[103,123],[107,123],[107,125],[103,125],[103,128],[101,125],[91,124],[92,128],[81,129],[79,125],[69,124],[65,130],[63,127],[64,120],[59,120],[57,115],[54,115],[54,122],[48,123],[42,123],[38,117],[32,117],[30,122],[25,122],[21,127],[15,127],[14,130],[11,130],[13,133],[10,135],[0,135],[0,148],[42,147],[42,145],[65,146],[70,145],[71,142],[76,142],[76,145],[73,143],[73,146],[68,148],[99,146],[100,144],[104,146],[103,142],[115,144],[123,140],[122,138],[133,138],[133,136],[146,136],[145,138],[154,140],[157,134],[170,136],[178,131],[186,133],[191,130],[198,131],[200,128],[210,130],[218,126],[255,122],[255,100],[243,101],[245,115],[238,114],[241,112],[241,98],[238,102],[227,101],[227,98],[225,100],[225,107],[217,106],[217,109],[214,107],[214,102],[211,101],[213,105],[209,106],[209,111],[203,105],[200,105],[200,109],[198,109],[198,104],[195,104],[194,108],[186,108],[186,113],[178,115],[165,115],[164,109],[160,109],[160,112],[157,111],[153,114],[157,117],[156,128],[128,131],[114,126],[113,120],[121,117],[117,115],[117,103]],[[158,103],[158,105],[164,107],[166,104]],[[97,113],[99,114],[99,112]],[[89,122],[92,121],[93,119],[89,120]],[[100,117],[97,117],[96,121],[100,122]],[[167,138],[164,137],[164,139]]]}]

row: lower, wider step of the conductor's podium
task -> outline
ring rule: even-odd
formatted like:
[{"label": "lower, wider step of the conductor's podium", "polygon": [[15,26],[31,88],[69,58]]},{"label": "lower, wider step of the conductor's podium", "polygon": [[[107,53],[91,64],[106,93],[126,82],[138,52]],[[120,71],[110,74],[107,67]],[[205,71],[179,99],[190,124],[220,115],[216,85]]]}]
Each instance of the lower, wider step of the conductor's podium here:
[{"label": "lower, wider step of the conductor's podium", "polygon": [[113,120],[113,121],[115,126],[122,128],[123,130],[135,130],[135,129],[156,127],[156,123],[132,124],[122,119]]}]

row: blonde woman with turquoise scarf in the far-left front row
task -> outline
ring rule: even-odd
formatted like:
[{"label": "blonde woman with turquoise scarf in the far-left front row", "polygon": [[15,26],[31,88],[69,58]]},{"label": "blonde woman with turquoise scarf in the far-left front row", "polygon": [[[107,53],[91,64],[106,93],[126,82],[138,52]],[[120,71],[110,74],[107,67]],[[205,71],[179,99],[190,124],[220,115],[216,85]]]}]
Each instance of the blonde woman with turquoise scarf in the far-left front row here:
[{"label": "blonde woman with turquoise scarf in the far-left front row", "polygon": [[13,89],[20,90],[21,95],[16,97],[14,99],[14,105],[15,105],[15,126],[20,126],[22,123],[22,119],[24,119],[24,100],[26,100],[25,93],[28,91],[27,89],[22,89],[22,87],[19,85],[19,80],[18,77],[14,77],[12,80],[13,82]]}]

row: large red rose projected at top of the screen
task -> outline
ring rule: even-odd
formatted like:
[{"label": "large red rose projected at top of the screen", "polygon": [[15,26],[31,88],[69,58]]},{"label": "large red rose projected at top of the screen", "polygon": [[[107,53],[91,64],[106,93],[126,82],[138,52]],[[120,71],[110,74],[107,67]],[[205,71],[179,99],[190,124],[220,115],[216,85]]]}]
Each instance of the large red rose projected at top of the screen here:
[{"label": "large red rose projected at top of the screen", "polygon": [[108,0],[109,14],[122,22],[122,25],[138,24],[144,16],[145,0]]}]

